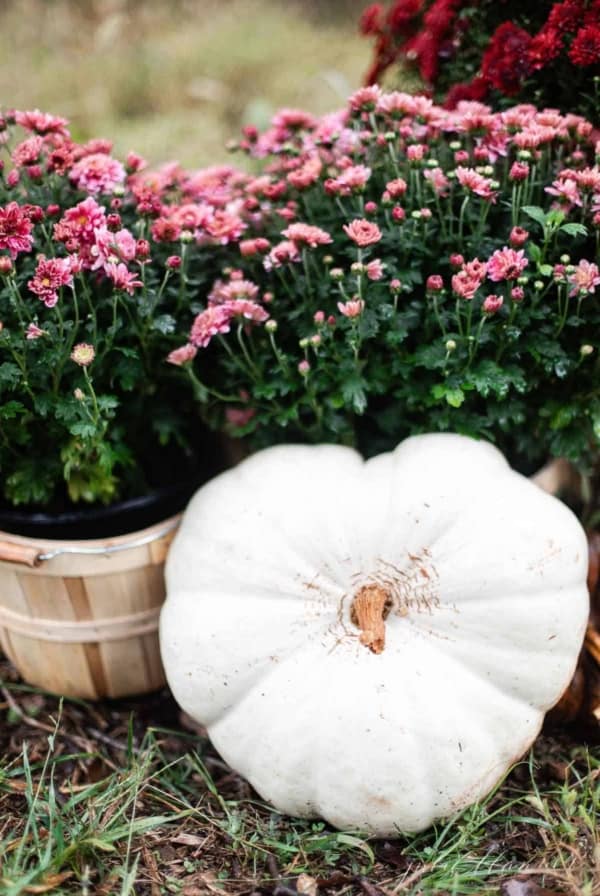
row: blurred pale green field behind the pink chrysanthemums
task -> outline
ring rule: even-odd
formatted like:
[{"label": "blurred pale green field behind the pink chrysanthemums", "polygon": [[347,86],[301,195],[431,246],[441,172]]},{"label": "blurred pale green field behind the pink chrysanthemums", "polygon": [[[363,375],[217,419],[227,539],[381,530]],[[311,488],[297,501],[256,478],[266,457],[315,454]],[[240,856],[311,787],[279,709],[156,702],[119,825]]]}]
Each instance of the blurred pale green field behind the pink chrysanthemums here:
[{"label": "blurred pale green field behind the pink chrysanthemums", "polygon": [[0,0],[0,105],[77,139],[199,166],[280,106],[326,112],[361,81],[366,0]]}]

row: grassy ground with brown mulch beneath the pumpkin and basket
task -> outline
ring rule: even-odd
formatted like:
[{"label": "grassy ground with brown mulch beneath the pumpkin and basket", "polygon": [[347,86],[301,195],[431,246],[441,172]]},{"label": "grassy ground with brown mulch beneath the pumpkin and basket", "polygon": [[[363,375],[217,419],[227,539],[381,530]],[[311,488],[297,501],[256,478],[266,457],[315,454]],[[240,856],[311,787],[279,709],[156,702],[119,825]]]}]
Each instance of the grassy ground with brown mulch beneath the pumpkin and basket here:
[{"label": "grassy ground with brown mulch beneath the pumpkin and basket", "polygon": [[99,706],[2,693],[3,896],[459,896],[507,892],[515,876],[600,892],[600,756],[564,734],[540,738],[482,803],[373,840],[262,804],[165,693]]}]

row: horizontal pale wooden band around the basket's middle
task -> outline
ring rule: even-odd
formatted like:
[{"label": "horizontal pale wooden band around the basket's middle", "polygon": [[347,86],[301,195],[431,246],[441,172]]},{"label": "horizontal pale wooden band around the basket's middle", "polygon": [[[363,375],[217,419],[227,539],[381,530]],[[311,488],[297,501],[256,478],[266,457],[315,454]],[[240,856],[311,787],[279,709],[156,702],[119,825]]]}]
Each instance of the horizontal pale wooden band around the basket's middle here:
[{"label": "horizontal pale wooden band around the basket's middle", "polygon": [[0,627],[15,635],[62,644],[123,641],[158,630],[160,607],[112,619],[34,619],[0,606]]}]

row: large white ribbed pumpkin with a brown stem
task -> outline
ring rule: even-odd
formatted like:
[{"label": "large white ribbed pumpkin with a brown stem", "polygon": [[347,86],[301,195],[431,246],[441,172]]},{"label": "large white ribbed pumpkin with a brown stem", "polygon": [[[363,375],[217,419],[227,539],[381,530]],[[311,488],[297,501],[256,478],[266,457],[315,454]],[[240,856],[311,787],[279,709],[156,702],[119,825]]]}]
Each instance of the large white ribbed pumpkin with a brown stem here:
[{"label": "large white ribbed pumpkin with a brown stem", "polygon": [[489,791],[575,668],[573,514],[491,445],[254,455],[192,500],[167,563],[167,678],[277,809],[417,831]]}]

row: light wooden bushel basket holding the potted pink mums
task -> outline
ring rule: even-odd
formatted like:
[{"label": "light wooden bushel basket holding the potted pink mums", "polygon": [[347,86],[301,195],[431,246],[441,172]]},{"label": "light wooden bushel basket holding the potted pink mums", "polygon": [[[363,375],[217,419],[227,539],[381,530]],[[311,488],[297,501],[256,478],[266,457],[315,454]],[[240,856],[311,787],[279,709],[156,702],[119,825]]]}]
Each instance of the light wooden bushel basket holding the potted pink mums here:
[{"label": "light wooden bushel basket holding the potted pink mums", "polygon": [[180,519],[94,541],[0,532],[0,644],[26,682],[91,700],[164,685],[158,616]]}]

